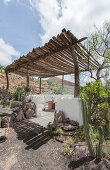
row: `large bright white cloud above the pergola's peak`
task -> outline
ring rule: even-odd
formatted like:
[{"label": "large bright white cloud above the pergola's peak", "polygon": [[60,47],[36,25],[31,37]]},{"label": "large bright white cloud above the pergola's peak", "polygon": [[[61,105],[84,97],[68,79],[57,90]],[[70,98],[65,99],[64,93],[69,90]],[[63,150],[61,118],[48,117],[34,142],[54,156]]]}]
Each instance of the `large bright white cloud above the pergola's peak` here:
[{"label": "large bright white cloud above the pergola's peak", "polygon": [[110,19],[110,0],[29,0],[30,7],[37,10],[44,34],[44,44],[62,28],[81,38]]}]

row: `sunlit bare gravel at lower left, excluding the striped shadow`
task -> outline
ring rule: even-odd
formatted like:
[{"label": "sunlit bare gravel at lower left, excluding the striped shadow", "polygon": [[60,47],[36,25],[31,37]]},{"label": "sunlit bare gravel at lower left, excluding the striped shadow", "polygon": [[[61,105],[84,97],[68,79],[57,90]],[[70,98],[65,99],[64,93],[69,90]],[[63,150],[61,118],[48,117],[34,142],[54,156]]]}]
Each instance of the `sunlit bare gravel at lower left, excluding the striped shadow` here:
[{"label": "sunlit bare gravel at lower left, excluding the striped shadow", "polygon": [[0,144],[0,170],[67,170],[68,161],[61,155],[62,144],[50,139],[38,149],[27,145],[13,129]]}]

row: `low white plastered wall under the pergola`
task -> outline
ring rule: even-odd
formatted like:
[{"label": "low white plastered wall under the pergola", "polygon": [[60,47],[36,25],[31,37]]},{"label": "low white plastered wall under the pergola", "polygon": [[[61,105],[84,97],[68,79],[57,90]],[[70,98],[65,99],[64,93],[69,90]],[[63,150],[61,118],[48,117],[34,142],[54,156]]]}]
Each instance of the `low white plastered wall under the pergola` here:
[{"label": "low white plastered wall under the pergola", "polygon": [[80,126],[83,124],[81,103],[79,102],[79,99],[74,98],[73,95],[42,94],[30,95],[28,96],[28,98],[31,98],[32,101],[36,104],[37,114],[41,114],[42,108],[44,107],[46,102],[54,99],[55,108],[57,111],[63,111],[66,117],[79,122]]}]

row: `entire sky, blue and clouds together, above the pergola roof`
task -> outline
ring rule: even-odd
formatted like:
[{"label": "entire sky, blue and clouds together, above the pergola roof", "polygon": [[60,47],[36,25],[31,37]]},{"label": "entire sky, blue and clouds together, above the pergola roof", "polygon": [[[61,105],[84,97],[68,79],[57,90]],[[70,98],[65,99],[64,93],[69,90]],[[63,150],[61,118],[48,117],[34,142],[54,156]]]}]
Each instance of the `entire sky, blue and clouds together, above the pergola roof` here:
[{"label": "entire sky, blue and clouds together, above the pergola roof", "polygon": [[8,65],[63,28],[82,38],[110,20],[110,0],[0,0],[0,64]]}]

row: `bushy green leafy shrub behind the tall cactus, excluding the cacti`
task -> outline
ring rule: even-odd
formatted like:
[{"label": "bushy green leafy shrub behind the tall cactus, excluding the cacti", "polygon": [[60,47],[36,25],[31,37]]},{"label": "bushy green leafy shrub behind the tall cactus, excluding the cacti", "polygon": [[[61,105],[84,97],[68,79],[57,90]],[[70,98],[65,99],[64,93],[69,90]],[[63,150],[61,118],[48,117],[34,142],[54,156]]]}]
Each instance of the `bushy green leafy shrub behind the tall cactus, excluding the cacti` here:
[{"label": "bushy green leafy shrub behind the tall cactus, excluding the cacti", "polygon": [[110,131],[110,86],[104,87],[100,81],[96,81],[86,84],[82,93],[87,102],[89,123]]}]

